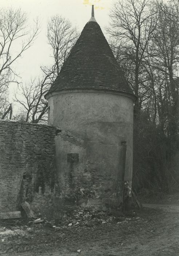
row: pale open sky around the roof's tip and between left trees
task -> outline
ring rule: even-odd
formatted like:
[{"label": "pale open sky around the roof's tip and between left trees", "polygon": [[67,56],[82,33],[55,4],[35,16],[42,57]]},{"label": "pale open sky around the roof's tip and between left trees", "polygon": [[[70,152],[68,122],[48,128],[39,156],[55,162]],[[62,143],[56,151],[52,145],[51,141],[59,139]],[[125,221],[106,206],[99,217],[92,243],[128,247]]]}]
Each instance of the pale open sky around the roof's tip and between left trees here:
[{"label": "pale open sky around the roof's tip and between left trees", "polygon": [[[41,32],[35,40],[33,46],[24,52],[21,59],[15,64],[16,72],[20,74],[19,82],[28,82],[32,77],[40,74],[40,65],[51,63],[50,48],[47,44],[47,19],[52,15],[63,15],[71,23],[82,31],[85,24],[91,18],[91,5],[95,7],[95,18],[103,33],[104,27],[108,25],[108,14],[112,7],[112,0],[0,0],[0,7],[21,8],[27,12],[29,24],[37,16],[41,20]],[[14,84],[13,84],[14,87]],[[12,91],[12,85],[10,86]]]}]

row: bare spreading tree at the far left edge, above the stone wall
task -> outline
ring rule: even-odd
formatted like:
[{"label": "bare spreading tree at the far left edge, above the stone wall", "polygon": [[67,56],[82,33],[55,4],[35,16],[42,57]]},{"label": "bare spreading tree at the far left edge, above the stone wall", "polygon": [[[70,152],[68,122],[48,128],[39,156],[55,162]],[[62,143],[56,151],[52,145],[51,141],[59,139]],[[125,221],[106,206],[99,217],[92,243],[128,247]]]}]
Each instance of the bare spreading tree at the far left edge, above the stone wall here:
[{"label": "bare spreading tree at the far left edge, above the stone wall", "polygon": [[[16,72],[13,68],[15,61],[20,58],[35,40],[38,31],[38,20],[33,29],[28,29],[28,19],[20,9],[0,10],[0,94],[7,94],[9,83],[17,83]],[[16,43],[16,49],[15,49]],[[18,47],[17,47],[18,43]],[[17,49],[18,48],[18,49]],[[3,98],[3,101],[6,97]],[[1,103],[2,104],[2,103]],[[0,112],[3,112],[1,109]],[[2,114],[2,113],[1,113]]]}]

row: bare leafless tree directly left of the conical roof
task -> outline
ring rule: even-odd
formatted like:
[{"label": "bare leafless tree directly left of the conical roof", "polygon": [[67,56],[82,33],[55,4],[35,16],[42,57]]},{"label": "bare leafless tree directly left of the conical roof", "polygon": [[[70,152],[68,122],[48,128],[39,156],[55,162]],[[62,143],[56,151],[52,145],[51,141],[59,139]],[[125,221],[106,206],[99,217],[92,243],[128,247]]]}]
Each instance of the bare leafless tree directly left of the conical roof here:
[{"label": "bare leafless tree directly left of the conical roof", "polygon": [[[77,39],[77,30],[69,20],[53,16],[48,21],[47,38],[52,49],[52,67],[41,67],[42,77],[22,84],[16,92],[15,101],[19,103],[20,119],[29,123],[47,122],[47,101],[44,95],[59,74],[60,69]],[[16,117],[18,118],[18,117]]]}]

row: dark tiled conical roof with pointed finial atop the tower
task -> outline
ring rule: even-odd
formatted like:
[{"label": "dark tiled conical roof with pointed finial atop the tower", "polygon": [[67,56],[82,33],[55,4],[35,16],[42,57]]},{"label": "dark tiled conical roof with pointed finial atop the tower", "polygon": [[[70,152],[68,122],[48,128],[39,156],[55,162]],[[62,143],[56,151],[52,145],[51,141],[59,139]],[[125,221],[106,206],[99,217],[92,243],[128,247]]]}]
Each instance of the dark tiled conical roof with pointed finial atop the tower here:
[{"label": "dark tiled conical roof with pointed finial atop the tower", "polygon": [[73,89],[103,89],[134,95],[94,15],[85,25],[47,95]]}]

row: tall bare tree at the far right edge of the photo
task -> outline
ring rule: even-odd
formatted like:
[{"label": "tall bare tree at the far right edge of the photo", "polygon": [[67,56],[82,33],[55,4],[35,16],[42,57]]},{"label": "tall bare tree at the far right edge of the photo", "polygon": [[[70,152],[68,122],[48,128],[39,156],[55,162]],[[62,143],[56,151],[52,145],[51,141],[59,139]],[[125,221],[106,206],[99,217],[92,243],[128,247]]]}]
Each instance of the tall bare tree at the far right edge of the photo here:
[{"label": "tall bare tree at the far right edge of the photo", "polygon": [[[162,107],[167,108],[168,136],[175,144],[179,126],[179,5],[175,1],[168,1],[156,3],[155,6],[159,19],[153,39],[154,67],[164,80],[160,101],[166,101]],[[162,120],[161,108],[160,113]]]}]

